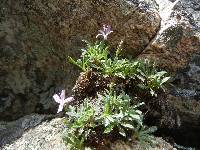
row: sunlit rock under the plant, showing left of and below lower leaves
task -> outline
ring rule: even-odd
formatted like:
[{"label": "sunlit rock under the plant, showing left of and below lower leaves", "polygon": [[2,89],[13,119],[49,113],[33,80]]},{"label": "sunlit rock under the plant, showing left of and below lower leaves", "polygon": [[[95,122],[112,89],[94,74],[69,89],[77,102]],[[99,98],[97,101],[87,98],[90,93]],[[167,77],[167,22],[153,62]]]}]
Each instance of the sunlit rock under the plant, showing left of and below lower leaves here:
[{"label": "sunlit rock under the plant, showing left of and below lower leaves", "polygon": [[[64,130],[63,118],[55,118],[51,121],[43,122],[35,128],[26,131],[21,138],[13,141],[12,144],[4,146],[3,150],[66,150],[67,147],[62,139],[62,133]],[[152,150],[172,150],[173,147],[162,140],[156,138],[154,146],[150,146]],[[148,146],[148,145],[145,145]],[[122,141],[116,141],[111,146],[105,149],[111,150],[144,150],[144,145],[139,142],[136,143],[125,143]],[[147,147],[145,147],[147,148]]]}]

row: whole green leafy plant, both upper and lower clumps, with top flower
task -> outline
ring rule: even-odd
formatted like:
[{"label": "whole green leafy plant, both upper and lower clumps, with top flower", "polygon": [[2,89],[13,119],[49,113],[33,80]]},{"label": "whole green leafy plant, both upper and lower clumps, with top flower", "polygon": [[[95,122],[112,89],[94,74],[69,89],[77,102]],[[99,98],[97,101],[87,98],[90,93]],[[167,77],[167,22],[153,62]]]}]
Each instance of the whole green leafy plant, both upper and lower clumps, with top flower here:
[{"label": "whole green leafy plant, both upper and lower clumps, with top flower", "polygon": [[[81,58],[74,60],[69,57],[69,61],[84,72],[90,70],[109,79],[117,77],[123,81],[131,81],[134,88],[157,96],[157,91],[164,90],[164,84],[170,79],[167,72],[158,71],[155,64],[146,59],[120,58],[122,43],[111,57],[105,40],[112,32],[110,26],[104,25],[103,30],[97,35],[102,36],[104,41],[97,41],[95,44],[85,41],[87,47],[81,50]],[[109,90],[97,93],[95,98],[87,97],[79,106],[68,107],[64,140],[70,149],[85,149],[95,135],[100,134],[104,138],[113,132],[125,139],[133,136],[144,144],[153,141],[151,134],[156,128],[147,128],[143,125],[143,114],[139,110],[144,103],[135,104],[136,101],[124,91],[117,94],[113,84],[111,83]],[[65,99],[62,101],[65,102]]]}]

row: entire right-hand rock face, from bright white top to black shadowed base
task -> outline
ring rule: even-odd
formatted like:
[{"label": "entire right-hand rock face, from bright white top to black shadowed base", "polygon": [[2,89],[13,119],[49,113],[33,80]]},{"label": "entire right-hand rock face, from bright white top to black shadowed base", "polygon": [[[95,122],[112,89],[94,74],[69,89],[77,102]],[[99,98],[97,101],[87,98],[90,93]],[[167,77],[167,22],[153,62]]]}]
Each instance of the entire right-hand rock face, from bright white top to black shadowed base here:
[{"label": "entire right-hand rock face, from bright white top to black shadowed base", "polygon": [[180,116],[172,131],[177,142],[199,147],[200,135],[200,0],[157,0],[161,28],[141,57],[174,74],[167,96]]}]

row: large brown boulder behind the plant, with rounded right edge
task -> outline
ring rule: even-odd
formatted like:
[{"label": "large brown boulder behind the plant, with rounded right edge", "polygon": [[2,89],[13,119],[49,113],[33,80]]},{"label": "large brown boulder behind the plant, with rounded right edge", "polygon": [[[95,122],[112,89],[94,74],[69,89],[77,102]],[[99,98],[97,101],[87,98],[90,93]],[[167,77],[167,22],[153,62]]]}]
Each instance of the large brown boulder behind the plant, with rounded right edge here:
[{"label": "large brown boulder behind the plant, with rounded right edge", "polygon": [[0,120],[53,113],[55,92],[68,95],[78,75],[66,64],[83,39],[94,40],[102,24],[124,40],[126,53],[139,54],[160,26],[156,3],[126,0],[8,0],[0,4]]}]

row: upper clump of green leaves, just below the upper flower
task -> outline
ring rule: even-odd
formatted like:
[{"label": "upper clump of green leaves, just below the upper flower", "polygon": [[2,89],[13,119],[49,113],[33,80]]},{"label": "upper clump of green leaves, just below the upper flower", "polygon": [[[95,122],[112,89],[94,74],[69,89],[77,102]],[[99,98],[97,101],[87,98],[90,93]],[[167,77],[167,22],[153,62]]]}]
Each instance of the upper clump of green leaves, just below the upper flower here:
[{"label": "upper clump of green leaves, just below the upper flower", "polygon": [[123,79],[139,81],[137,86],[156,96],[158,89],[164,90],[164,83],[169,80],[166,71],[157,71],[155,64],[149,60],[119,58],[122,51],[119,46],[115,55],[111,57],[109,47],[104,42],[91,44],[87,42],[86,49],[82,49],[81,58],[70,62],[78,66],[82,71],[93,69],[104,76],[116,76]]}]

